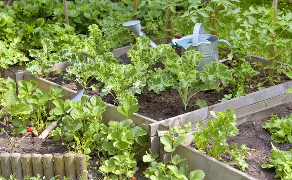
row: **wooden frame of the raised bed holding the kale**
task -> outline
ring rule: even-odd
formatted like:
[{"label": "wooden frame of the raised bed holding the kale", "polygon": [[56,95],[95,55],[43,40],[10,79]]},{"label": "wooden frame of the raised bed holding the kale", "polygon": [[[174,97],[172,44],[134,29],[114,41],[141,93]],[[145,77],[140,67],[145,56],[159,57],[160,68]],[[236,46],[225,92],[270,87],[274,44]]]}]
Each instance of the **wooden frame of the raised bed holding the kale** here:
[{"label": "wooden frame of the raised bed holding the kale", "polygon": [[[258,56],[251,56],[246,57],[249,58],[251,61],[263,61],[264,63],[267,63],[267,59],[258,57]],[[51,86],[58,86],[58,84],[50,82],[48,80],[45,80],[43,78],[39,78],[36,76],[32,76],[29,73],[24,73],[23,79],[26,81],[29,80],[36,80],[38,84],[38,88],[49,91]],[[265,108],[267,106],[271,106],[271,103],[273,101],[266,101],[270,98],[275,98],[278,103],[288,100],[291,98],[290,96],[280,96],[283,95],[284,91],[291,87],[292,82],[288,83],[282,83],[279,85],[276,85],[271,88],[267,88],[264,90],[259,90],[253,93],[250,93],[246,96],[234,98],[232,100],[228,100],[226,102],[218,103],[212,106],[209,106],[207,108],[201,108],[198,110],[194,110],[191,112],[184,113],[182,115],[178,115],[175,117],[171,117],[162,121],[155,121],[151,118],[148,118],[146,116],[139,115],[137,113],[131,115],[129,118],[134,121],[136,125],[144,125],[143,128],[148,132],[149,135],[149,146],[151,150],[154,153],[159,153],[159,138],[157,136],[157,130],[166,130],[168,126],[178,125],[182,126],[183,124],[187,122],[192,122],[192,124],[195,125],[195,123],[201,119],[209,119],[211,118],[211,115],[209,114],[210,110],[216,110],[221,111],[228,107],[233,108],[235,110],[235,113],[238,117],[242,116],[243,114],[255,111],[261,108]],[[63,94],[64,99],[68,99],[73,97],[73,95],[76,93],[74,90],[70,90],[68,88],[64,87]],[[279,97],[278,97],[279,96]],[[287,99],[288,98],[288,99]],[[272,103],[273,104],[273,103]],[[111,104],[107,104],[107,110],[103,114],[103,121],[107,124],[110,120],[115,119],[116,121],[121,121],[125,119],[126,116],[121,115],[117,111],[117,107]],[[151,102],[149,102],[149,105],[151,105]],[[241,117],[242,121],[244,121],[244,117]],[[160,119],[161,120],[161,119]]]}]

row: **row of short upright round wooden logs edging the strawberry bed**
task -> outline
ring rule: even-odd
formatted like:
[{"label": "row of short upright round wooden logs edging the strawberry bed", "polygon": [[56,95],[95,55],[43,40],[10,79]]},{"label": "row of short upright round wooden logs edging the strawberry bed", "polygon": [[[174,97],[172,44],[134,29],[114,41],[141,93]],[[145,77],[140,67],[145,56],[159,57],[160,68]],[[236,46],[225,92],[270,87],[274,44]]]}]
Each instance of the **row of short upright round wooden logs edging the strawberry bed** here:
[{"label": "row of short upright round wooden logs edging the strawberry bed", "polygon": [[0,175],[9,179],[40,176],[50,180],[53,177],[62,180],[64,176],[71,180],[87,180],[85,154],[19,154],[4,152],[0,154]]}]

